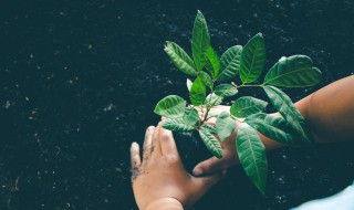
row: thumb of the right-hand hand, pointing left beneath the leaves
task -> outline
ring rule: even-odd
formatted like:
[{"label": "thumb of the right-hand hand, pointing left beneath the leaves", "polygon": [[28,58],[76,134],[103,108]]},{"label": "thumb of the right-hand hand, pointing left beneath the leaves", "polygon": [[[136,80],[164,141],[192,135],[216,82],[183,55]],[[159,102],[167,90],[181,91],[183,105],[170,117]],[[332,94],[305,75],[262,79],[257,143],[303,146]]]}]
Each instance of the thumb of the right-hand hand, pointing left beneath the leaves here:
[{"label": "thumb of the right-hand hand, pointing left beneath the leaves", "polygon": [[226,159],[218,159],[216,157],[212,157],[199,162],[192,169],[192,175],[194,176],[210,175],[212,172],[220,171],[227,168],[228,168],[228,165]]}]

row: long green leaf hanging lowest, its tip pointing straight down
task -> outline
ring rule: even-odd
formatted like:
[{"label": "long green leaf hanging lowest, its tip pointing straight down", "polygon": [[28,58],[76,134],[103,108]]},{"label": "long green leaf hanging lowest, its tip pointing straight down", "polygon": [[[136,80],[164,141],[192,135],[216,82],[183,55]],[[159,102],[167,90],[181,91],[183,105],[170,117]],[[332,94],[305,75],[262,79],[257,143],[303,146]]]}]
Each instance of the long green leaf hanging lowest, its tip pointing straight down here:
[{"label": "long green leaf hanging lowest, its tip pointing straight down", "polygon": [[236,137],[240,162],[254,186],[264,195],[268,176],[266,147],[249,125],[241,123]]}]

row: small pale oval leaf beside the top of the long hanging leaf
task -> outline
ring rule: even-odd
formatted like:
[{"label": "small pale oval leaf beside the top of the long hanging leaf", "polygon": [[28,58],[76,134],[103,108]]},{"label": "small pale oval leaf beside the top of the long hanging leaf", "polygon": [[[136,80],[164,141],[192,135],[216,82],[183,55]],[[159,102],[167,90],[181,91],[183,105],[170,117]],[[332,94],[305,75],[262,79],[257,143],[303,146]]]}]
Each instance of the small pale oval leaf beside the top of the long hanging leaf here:
[{"label": "small pale oval leaf beside the top of the long hanging leaf", "polygon": [[217,117],[217,134],[221,141],[231,136],[236,128],[236,120],[230,116],[229,113],[222,112]]}]

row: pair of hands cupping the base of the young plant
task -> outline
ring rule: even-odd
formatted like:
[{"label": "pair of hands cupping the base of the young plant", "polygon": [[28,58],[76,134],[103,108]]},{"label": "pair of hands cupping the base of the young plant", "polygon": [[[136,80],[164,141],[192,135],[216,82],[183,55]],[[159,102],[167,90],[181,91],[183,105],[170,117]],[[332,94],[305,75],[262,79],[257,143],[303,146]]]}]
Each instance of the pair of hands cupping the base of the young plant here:
[{"label": "pair of hands cupping the base of the young plant", "polygon": [[[225,109],[228,107],[219,107],[217,111]],[[214,124],[215,119],[208,123]],[[212,157],[198,164],[192,176],[184,169],[171,132],[164,129],[162,124],[147,128],[143,160],[138,144],[132,144],[135,200],[139,209],[158,209],[163,206],[168,206],[168,209],[188,209],[226,175],[227,168],[238,162],[236,132],[221,143],[222,159]]]}]

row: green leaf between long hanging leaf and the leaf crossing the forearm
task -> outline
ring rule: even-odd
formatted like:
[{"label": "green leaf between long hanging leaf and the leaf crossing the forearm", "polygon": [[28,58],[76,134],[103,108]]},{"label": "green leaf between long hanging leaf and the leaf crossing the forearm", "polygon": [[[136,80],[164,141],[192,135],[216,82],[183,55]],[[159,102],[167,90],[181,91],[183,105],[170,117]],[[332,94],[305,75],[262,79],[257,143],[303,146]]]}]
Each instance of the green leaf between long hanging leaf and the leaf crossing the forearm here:
[{"label": "green leaf between long hanging leaf and the leaf crossing the forearm", "polygon": [[282,117],[258,113],[247,117],[246,123],[268,138],[287,145],[296,145],[296,138],[291,136],[288,122]]}]

